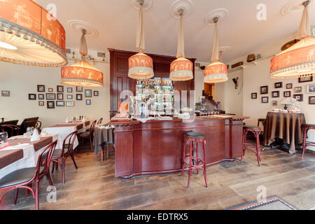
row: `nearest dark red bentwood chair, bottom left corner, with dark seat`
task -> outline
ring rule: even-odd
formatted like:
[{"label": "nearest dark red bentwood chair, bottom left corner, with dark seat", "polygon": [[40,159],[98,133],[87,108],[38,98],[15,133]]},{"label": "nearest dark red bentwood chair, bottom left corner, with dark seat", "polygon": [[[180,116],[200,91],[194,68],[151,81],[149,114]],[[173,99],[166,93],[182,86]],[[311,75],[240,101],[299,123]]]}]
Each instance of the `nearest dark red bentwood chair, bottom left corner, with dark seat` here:
[{"label": "nearest dark red bentwood chair, bottom left corner, with dark seat", "polygon": [[[46,148],[38,155],[36,167],[28,167],[23,169],[15,170],[10,174],[0,179],[0,190],[6,190],[0,197],[0,203],[3,197],[12,190],[15,190],[15,200],[13,204],[16,204],[18,200],[18,190],[24,188],[31,192],[35,198],[35,209],[39,209],[39,190],[41,188],[41,182],[43,177],[46,176],[50,186],[53,186],[52,180],[50,179],[49,166],[52,159],[52,155],[55,151],[57,140],[46,146]],[[43,160],[43,155],[47,155]],[[35,184],[35,191],[31,188],[32,183]]]}]

